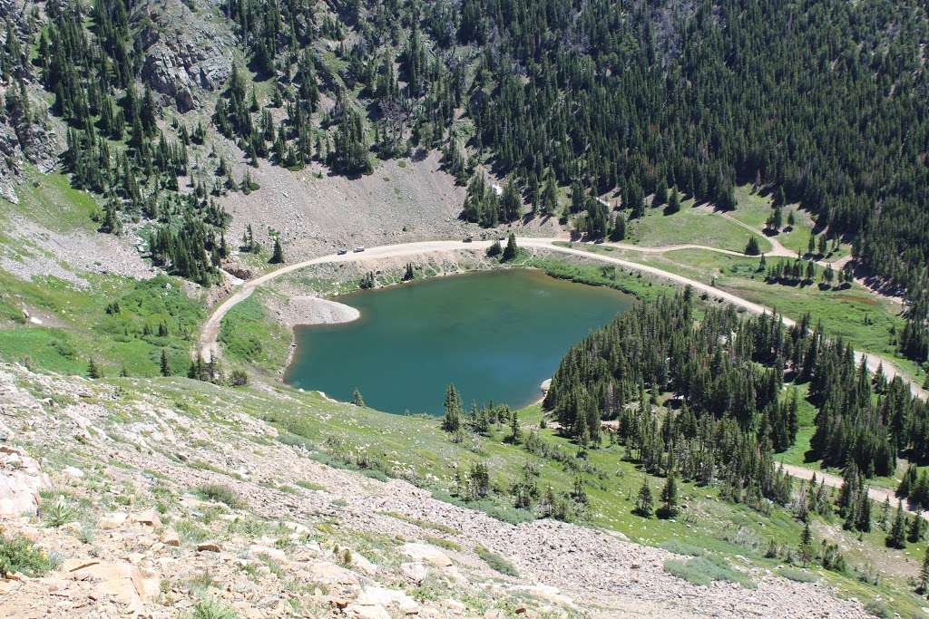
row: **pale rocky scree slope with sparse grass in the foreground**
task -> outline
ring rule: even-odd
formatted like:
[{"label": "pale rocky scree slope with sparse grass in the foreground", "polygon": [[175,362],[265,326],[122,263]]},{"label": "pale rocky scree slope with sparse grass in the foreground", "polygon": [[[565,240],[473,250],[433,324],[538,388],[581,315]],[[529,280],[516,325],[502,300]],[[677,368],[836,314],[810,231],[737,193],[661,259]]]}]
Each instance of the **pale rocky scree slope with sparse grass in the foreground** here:
[{"label": "pale rocky scree slope with sparse grass in the foreground", "polygon": [[[693,586],[665,574],[667,551],[334,469],[210,386],[157,387],[0,366],[3,534],[53,566],[0,580],[0,616],[865,614],[757,569],[757,588]],[[272,410],[292,397],[255,389]]]}]

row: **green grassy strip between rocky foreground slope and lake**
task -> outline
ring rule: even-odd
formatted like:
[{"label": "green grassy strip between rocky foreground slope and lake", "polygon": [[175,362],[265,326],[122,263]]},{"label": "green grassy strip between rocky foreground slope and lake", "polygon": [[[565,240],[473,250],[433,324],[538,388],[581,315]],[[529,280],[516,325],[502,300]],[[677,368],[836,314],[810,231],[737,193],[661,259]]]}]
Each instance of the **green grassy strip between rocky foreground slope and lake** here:
[{"label": "green grassy strip between rocky foreground slope and lake", "polygon": [[[221,411],[235,407],[274,424],[282,432],[279,440],[305,445],[314,458],[334,466],[360,469],[375,477],[403,477],[432,490],[435,496],[451,500],[456,500],[450,496],[455,471],[467,470],[473,461],[483,461],[491,471],[496,491],[490,499],[471,507],[511,522],[531,517],[526,510],[513,508],[510,497],[506,496],[525,463],[531,462],[539,473],[537,481],[543,490],[550,484],[556,492],[568,492],[580,475],[590,499],[585,522],[628,535],[639,543],[678,551],[702,548],[735,564],[747,560],[756,566],[776,568],[777,561],[764,557],[768,543],[774,540],[782,547],[795,548],[801,532],[800,523],[788,510],[775,507],[765,516],[745,505],[719,500],[718,491],[712,486],[694,484],[680,484],[679,496],[686,508],[676,520],[634,516],[631,509],[644,474],[636,469],[635,462],[624,458],[620,445],[605,444],[581,454],[576,445],[555,432],[539,430],[545,441],[579,456],[572,459],[582,468],[578,472],[532,455],[519,445],[506,443],[505,425],[492,428],[486,437],[469,437],[455,444],[439,430],[436,419],[389,415],[332,402],[315,392],[295,392],[282,385],[232,390],[179,379],[134,380],[131,384],[137,390],[164,398],[172,406],[213,415],[220,422]],[[539,406],[529,406],[518,414],[523,432],[539,427],[542,416]],[[657,495],[662,480],[649,477],[649,481]],[[836,518],[816,518],[813,524],[818,538],[828,536],[831,542],[843,546],[844,555],[853,566],[900,564],[899,552],[883,548],[883,532],[879,530],[858,541],[856,535],[841,530],[841,522]],[[923,551],[924,544],[920,543],[909,545],[906,552],[915,561]],[[815,568],[811,571],[838,587],[843,595],[859,600],[893,600],[898,612],[919,616],[922,602],[909,594],[905,576],[897,572],[885,574],[875,586],[859,582],[854,572],[834,574]]]}]

